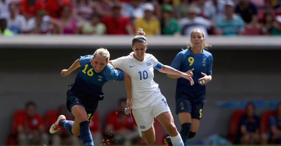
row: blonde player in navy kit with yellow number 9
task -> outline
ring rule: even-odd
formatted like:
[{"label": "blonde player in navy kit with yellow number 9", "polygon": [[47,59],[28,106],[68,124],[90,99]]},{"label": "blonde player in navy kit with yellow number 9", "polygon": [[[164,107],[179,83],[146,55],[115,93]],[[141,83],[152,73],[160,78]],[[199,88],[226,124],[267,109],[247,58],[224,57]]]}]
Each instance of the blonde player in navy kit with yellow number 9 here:
[{"label": "blonde player in navy kit with yellow number 9", "polygon": [[[177,78],[176,85],[176,114],[181,122],[181,138],[187,144],[187,139],[195,136],[199,128],[205,100],[205,85],[212,80],[213,57],[207,51],[209,44],[205,44],[204,33],[201,29],[194,29],[190,36],[192,47],[179,52],[171,67],[192,75],[194,85],[181,78],[167,74],[170,78]],[[166,145],[170,145],[167,137]]]}]

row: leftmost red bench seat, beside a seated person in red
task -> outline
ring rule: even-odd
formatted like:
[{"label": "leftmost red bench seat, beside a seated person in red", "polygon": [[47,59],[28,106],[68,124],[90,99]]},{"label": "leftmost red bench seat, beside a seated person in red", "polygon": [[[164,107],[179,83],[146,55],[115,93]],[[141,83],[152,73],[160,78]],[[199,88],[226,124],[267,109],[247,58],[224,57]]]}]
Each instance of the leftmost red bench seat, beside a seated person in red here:
[{"label": "leftmost red bench seat, beside a seated person in red", "polygon": [[7,138],[7,145],[17,145],[17,120],[19,115],[24,114],[24,109],[17,109],[12,116],[11,133]]}]

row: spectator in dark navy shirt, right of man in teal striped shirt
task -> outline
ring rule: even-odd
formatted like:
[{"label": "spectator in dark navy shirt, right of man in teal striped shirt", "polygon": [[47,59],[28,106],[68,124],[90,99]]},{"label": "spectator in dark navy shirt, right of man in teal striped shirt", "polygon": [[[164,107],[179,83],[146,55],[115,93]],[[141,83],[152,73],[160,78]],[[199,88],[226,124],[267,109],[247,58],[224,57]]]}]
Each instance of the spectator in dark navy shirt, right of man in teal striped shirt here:
[{"label": "spectator in dark navy shirt, right of man in teal striped shirt", "polygon": [[235,13],[243,18],[245,25],[258,26],[257,7],[250,0],[240,0],[235,7]]}]

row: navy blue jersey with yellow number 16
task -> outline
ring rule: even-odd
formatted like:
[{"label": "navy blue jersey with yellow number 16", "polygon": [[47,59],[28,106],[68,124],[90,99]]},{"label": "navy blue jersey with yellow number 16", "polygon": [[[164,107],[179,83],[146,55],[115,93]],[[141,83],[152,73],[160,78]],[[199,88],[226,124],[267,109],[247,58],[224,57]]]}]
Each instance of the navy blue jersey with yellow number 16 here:
[{"label": "navy blue jersey with yellow number 16", "polygon": [[87,99],[87,101],[99,101],[103,100],[102,86],[105,82],[109,80],[123,81],[125,73],[115,70],[109,64],[101,72],[96,73],[90,63],[92,57],[93,55],[87,55],[79,58],[81,70],[75,78],[71,92],[82,99]]}]

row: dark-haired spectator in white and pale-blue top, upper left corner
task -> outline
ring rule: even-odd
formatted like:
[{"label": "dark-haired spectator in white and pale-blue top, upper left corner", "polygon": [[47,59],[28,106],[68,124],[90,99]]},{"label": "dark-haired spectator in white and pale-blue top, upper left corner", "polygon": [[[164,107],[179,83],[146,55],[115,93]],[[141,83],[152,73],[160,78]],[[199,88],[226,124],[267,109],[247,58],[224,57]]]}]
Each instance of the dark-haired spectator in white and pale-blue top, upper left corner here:
[{"label": "dark-haired spectator in white and pale-blue top, upper left corner", "polygon": [[10,3],[9,5],[10,16],[7,18],[8,28],[14,33],[26,33],[28,26],[27,21],[23,15],[18,14],[18,8],[16,3]]}]

